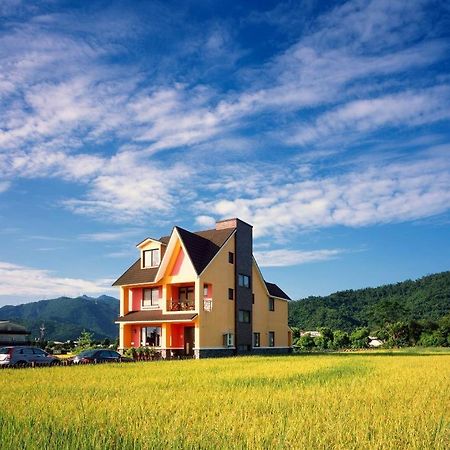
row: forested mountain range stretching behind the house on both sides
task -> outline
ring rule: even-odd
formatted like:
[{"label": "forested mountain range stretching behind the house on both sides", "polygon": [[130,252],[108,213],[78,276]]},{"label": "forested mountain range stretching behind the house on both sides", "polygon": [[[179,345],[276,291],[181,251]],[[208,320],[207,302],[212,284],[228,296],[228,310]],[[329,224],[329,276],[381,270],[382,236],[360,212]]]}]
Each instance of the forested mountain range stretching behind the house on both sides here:
[{"label": "forested mountain range stretching behind the house on both sides", "polygon": [[[450,313],[450,271],[376,288],[339,291],[289,303],[289,325],[302,330],[330,327],[373,330],[388,322],[438,320]],[[0,320],[27,327],[33,338],[45,326],[45,339],[77,339],[83,330],[96,339],[116,339],[119,300],[102,295],[59,297],[0,308]]]}]

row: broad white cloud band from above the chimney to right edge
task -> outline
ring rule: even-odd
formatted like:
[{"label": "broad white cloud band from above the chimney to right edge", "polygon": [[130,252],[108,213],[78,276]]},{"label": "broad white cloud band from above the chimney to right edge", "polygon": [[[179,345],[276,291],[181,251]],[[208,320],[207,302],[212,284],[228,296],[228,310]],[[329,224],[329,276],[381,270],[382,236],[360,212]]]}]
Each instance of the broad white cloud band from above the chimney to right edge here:
[{"label": "broad white cloud band from above the chimney to right edge", "polygon": [[254,186],[258,194],[236,197],[234,190],[229,196],[225,190],[217,201],[199,202],[197,208],[219,218],[239,216],[253,224],[256,236],[403,222],[450,208],[446,155],[378,163],[327,177],[296,176],[296,181],[292,170],[277,170],[276,183],[260,180]]}]

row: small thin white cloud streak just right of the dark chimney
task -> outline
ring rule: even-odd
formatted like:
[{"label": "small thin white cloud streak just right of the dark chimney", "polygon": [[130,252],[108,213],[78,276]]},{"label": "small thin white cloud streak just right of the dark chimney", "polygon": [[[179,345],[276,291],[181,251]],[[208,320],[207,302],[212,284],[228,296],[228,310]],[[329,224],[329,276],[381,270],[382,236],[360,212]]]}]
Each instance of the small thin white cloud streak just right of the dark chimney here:
[{"label": "small thin white cloud streak just right of the dark chimney", "polygon": [[261,267],[283,267],[296,266],[318,261],[335,259],[344,250],[324,249],[324,250],[267,250],[255,251],[255,258]]}]

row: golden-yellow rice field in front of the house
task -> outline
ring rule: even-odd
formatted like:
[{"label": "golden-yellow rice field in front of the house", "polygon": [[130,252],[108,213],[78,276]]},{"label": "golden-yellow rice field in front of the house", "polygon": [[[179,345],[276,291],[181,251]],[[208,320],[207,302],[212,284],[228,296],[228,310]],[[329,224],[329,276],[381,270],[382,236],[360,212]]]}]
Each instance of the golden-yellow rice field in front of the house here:
[{"label": "golden-yellow rice field in front of the house", "polygon": [[450,354],[0,371],[5,449],[448,449]]}]

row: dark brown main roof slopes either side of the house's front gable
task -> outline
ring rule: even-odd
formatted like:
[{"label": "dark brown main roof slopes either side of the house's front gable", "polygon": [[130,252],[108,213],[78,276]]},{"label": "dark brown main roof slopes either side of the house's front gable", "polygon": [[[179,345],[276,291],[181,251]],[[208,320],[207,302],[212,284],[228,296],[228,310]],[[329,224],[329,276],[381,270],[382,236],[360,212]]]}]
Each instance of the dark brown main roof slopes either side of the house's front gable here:
[{"label": "dark brown main roof slopes either side of the house's front gable", "polygon": [[[233,234],[234,228],[223,230],[205,230],[191,233],[184,228],[175,227],[186,248],[189,258],[194,265],[195,271],[200,274],[203,269],[214,258],[220,247]],[[170,236],[159,239],[163,244],[168,244]],[[148,269],[141,268],[141,260],[138,259],[123,275],[120,276],[113,286],[127,284],[152,283],[155,280],[158,267]]]}]

